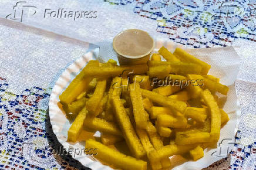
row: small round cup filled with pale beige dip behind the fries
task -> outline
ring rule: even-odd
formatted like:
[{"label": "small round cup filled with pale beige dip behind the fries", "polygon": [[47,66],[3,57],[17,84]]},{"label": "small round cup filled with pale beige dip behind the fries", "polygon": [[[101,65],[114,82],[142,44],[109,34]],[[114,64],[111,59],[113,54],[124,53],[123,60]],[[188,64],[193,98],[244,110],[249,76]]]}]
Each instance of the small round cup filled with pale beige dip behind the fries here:
[{"label": "small round cup filled with pale beige dip behind the fries", "polygon": [[146,63],[153,49],[153,38],[140,29],[124,30],[113,39],[113,50],[120,65]]}]

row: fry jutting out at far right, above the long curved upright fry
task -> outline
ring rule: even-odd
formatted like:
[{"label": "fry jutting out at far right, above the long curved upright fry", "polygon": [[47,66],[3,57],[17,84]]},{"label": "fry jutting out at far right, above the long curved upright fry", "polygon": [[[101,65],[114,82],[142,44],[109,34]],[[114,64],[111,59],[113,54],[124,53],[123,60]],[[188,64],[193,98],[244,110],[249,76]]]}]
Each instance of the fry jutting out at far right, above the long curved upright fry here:
[{"label": "fry jutting out at far right, above the long curved upright fry", "polygon": [[217,83],[210,79],[207,79],[201,75],[193,74],[190,76],[194,77],[193,79],[203,80],[203,85],[204,85],[203,87],[206,87],[207,89],[209,89],[211,91],[218,91],[219,93],[224,94],[224,95],[227,95],[227,93],[228,93],[228,87],[223,84],[220,84],[220,83]]}]

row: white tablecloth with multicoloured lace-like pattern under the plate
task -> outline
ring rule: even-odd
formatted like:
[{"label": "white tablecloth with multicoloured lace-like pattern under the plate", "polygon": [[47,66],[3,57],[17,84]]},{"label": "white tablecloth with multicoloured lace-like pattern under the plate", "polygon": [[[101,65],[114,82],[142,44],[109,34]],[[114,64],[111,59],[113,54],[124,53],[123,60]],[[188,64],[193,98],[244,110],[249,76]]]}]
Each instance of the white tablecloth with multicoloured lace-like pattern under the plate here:
[{"label": "white tablecloth with multicoloured lace-like pattern under the plate", "polygon": [[49,123],[49,96],[77,57],[100,46],[99,60],[106,60],[114,35],[129,28],[194,48],[237,46],[235,148],[208,169],[256,168],[255,0],[1,0],[0,6],[0,169],[85,168],[70,155],[52,154],[61,147]]}]

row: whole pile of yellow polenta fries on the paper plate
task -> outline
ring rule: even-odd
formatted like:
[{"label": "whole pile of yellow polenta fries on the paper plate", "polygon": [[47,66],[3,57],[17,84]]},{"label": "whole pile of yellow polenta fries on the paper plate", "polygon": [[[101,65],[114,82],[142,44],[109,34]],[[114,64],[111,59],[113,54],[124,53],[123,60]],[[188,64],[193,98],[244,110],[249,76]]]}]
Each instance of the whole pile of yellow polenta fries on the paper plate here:
[{"label": "whole pile of yellow polenta fries on the paper plate", "polygon": [[90,61],[59,96],[74,120],[68,141],[78,141],[82,130],[99,131],[100,140],[86,140],[85,147],[96,148],[93,157],[113,168],[170,169],[183,156],[197,161],[229,120],[219,97],[228,87],[207,74],[210,67],[165,47],[147,64]]}]

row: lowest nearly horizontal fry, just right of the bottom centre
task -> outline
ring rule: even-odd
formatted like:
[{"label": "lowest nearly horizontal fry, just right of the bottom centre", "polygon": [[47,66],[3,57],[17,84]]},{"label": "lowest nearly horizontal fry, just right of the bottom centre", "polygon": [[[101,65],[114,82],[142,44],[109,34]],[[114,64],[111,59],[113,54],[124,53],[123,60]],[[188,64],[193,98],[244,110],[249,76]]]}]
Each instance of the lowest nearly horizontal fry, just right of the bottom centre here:
[{"label": "lowest nearly horizontal fry, just right of the bottom centre", "polygon": [[166,157],[171,157],[173,155],[182,155],[185,154],[186,152],[190,151],[191,149],[196,148],[196,144],[192,145],[166,145],[164,147],[161,147],[159,150],[156,151],[150,151],[149,157],[151,159],[162,159]]}]

